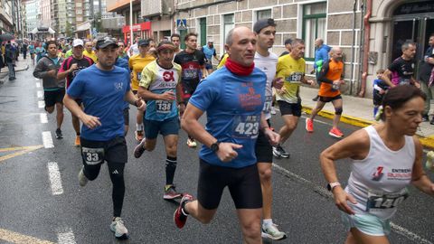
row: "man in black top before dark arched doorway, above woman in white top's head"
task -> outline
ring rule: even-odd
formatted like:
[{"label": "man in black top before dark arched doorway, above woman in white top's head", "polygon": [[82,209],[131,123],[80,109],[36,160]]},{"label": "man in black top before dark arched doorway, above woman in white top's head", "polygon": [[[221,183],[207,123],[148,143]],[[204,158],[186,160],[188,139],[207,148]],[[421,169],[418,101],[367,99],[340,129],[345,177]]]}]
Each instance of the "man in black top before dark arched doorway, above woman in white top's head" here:
[{"label": "man in black top before dark arched doorway, above woman in white top's head", "polygon": [[416,55],[416,43],[404,42],[401,46],[402,55],[392,61],[391,65],[382,74],[382,80],[391,88],[398,85],[413,85],[420,88],[420,82],[415,80],[414,56]]}]

